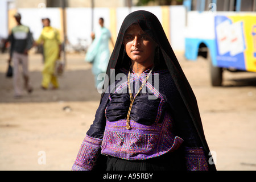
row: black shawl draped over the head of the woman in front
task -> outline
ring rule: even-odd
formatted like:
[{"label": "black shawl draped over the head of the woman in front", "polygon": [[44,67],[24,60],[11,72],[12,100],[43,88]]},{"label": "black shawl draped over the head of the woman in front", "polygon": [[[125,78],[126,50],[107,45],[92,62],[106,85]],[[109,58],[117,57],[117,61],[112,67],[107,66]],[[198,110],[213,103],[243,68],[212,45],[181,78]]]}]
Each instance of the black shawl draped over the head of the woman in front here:
[{"label": "black shawl draped over the head of the woman in front", "polygon": [[[129,28],[131,24],[134,23],[138,23],[139,26],[141,26],[142,30],[146,32],[146,34],[158,44],[159,50],[160,52],[162,52],[161,58],[164,60],[162,64],[170,71],[171,76],[177,86],[177,89],[179,90],[180,96],[183,99],[185,106],[187,106],[188,112],[193,121],[193,125],[195,126],[197,133],[201,139],[204,150],[206,152],[206,156],[209,158],[209,147],[205,140],[203,125],[201,123],[201,117],[199,113],[199,108],[197,106],[196,97],[180,67],[179,62],[177,61],[175,53],[172,50],[171,45],[163,30],[162,24],[159,22],[158,18],[154,14],[148,11],[140,10],[127,15],[126,18],[123,20],[106,71],[109,80],[105,81],[110,81],[110,77],[114,76],[110,75],[110,69],[122,68],[125,66],[125,64],[127,64],[127,61],[126,63],[123,62],[123,53],[125,48],[122,43],[123,36],[125,35],[125,31],[127,30],[127,28]],[[209,165],[209,168],[214,170],[215,166]]]}]

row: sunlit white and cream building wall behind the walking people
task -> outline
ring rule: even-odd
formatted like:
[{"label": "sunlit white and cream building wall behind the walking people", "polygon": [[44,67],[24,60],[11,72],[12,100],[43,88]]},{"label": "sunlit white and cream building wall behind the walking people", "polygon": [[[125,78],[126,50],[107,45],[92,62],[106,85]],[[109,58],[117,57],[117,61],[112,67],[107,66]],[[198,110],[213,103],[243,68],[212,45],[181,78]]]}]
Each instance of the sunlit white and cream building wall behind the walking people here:
[{"label": "sunlit white and cream building wall behind the walking people", "polygon": [[[24,3],[26,2],[26,3]],[[105,27],[117,38],[125,16],[132,11],[147,10],[154,13],[164,28],[172,47],[184,50],[184,6],[134,6],[137,0],[0,0],[0,38],[7,38],[8,32],[16,25],[13,15],[19,12],[22,23],[29,26],[35,39],[42,31],[42,18],[51,19],[51,26],[60,30],[61,41],[68,47],[76,47],[81,42],[90,44],[90,33],[97,28],[98,18],[105,20]],[[108,2],[108,3],[106,3]],[[128,3],[130,2],[130,4]],[[129,6],[128,6],[129,5]],[[177,19],[176,17],[179,17]]]}]

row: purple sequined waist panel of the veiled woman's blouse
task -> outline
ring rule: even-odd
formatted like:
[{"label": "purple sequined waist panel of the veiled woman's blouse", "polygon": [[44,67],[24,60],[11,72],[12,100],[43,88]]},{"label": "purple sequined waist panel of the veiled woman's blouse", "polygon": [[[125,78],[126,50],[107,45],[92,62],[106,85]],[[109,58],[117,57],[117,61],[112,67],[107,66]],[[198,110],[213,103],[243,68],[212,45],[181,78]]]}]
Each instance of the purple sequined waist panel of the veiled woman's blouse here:
[{"label": "purple sequined waist panel of the veiled woman's blouse", "polygon": [[127,160],[149,159],[179,148],[183,139],[172,134],[172,119],[166,114],[163,123],[150,126],[126,120],[106,123],[101,154]]}]

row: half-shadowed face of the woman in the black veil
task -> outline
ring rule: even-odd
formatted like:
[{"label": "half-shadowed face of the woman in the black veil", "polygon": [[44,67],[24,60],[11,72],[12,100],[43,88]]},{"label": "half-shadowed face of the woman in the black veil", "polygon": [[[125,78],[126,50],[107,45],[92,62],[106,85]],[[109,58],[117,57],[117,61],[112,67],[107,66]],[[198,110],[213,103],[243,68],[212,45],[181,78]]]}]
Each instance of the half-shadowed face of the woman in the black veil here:
[{"label": "half-shadowed face of the woman in the black veil", "polygon": [[131,60],[137,63],[154,63],[156,43],[145,34],[139,24],[133,24],[127,29],[123,44]]}]

